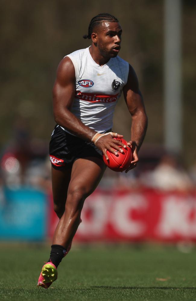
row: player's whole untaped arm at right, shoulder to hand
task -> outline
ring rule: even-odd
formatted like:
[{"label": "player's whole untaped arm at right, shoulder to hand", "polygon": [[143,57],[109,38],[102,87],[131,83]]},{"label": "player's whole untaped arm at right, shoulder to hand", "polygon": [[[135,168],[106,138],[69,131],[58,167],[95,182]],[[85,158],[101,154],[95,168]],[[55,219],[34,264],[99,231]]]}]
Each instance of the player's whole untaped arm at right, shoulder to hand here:
[{"label": "player's whole untaped arm at right, shoulder to hand", "polygon": [[[138,78],[134,69],[129,65],[128,81],[123,88],[125,102],[132,117],[131,141],[134,160],[132,167],[138,162],[138,150],[144,140],[147,130],[147,115],[144,108],[144,102],[139,90]],[[135,165],[136,166],[136,165]],[[130,168],[130,169],[131,169]]]}]

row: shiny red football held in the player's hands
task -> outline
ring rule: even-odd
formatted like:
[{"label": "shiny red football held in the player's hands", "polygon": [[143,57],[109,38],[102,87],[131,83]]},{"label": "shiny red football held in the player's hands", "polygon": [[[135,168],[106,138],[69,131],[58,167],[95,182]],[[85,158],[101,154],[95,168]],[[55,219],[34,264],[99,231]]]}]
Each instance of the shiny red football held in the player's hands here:
[{"label": "shiny red football held in the player's hands", "polygon": [[[120,142],[127,145],[127,141],[122,138],[114,138],[114,139],[119,140]],[[122,147],[122,149],[123,149],[123,153],[118,151],[118,156],[107,151],[109,160],[106,160],[105,156],[103,155],[104,163],[114,171],[123,171],[127,169],[131,163],[132,160],[131,147],[127,147],[127,148]]]}]

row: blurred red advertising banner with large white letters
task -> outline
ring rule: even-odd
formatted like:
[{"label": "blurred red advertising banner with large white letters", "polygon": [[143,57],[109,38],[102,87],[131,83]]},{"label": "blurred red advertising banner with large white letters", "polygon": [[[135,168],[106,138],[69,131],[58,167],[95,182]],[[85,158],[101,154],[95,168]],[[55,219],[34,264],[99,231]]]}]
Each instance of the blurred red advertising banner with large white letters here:
[{"label": "blurred red advertising banner with large white letters", "polygon": [[[53,234],[58,219],[51,208]],[[196,240],[196,193],[96,190],[84,203],[74,240]]]}]

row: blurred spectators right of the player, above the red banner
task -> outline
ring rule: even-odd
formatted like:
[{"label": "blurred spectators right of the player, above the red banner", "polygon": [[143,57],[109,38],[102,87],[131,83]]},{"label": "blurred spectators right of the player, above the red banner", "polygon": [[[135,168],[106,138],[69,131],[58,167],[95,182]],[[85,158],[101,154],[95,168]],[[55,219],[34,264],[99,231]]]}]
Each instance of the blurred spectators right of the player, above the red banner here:
[{"label": "blurred spectators right of the player, above the red banner", "polygon": [[100,184],[104,188],[113,186],[119,189],[191,192],[196,187],[196,162],[186,169],[177,154],[144,144],[135,169],[128,173],[113,173],[107,169]]}]

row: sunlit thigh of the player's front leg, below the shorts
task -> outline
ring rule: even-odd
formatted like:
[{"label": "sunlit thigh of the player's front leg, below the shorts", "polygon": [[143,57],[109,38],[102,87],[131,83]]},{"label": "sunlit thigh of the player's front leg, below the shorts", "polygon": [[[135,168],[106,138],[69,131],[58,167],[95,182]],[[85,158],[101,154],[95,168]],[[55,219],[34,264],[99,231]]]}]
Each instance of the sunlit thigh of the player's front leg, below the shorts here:
[{"label": "sunlit thigh of the player's front leg, below the shorts", "polygon": [[105,170],[106,165],[100,158],[86,157],[75,160],[68,192],[82,190],[87,197],[95,190]]}]

